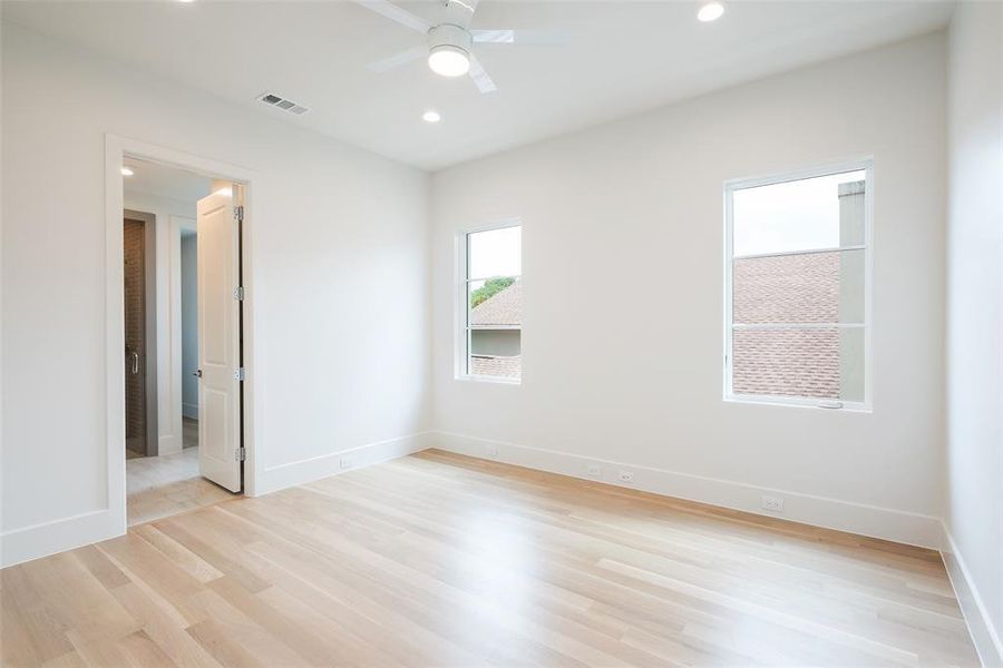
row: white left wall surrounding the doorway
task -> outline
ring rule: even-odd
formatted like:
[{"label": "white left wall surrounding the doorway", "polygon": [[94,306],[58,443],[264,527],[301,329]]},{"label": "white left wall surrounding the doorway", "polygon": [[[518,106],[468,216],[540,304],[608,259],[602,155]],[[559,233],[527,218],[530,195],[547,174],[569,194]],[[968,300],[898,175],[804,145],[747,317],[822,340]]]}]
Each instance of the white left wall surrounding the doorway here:
[{"label": "white left wall surrounding the doorway", "polygon": [[429,426],[423,173],[10,23],[2,42],[4,563],[118,530],[106,132],[253,171],[257,492],[333,472],[340,451],[413,446]]}]

